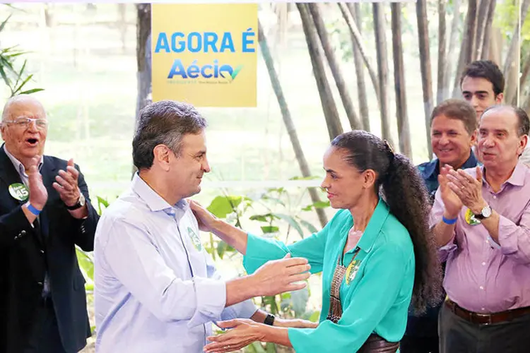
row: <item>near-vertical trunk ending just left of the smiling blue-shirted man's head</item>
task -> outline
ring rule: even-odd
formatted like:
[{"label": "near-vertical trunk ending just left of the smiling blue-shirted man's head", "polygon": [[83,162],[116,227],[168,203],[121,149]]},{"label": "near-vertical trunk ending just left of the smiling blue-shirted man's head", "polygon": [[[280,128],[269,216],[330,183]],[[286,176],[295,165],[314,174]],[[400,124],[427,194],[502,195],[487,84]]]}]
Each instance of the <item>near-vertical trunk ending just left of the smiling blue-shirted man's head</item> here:
[{"label": "near-vertical trunk ending just left of the smiling blue-shirted man's head", "polygon": [[429,30],[427,21],[427,1],[416,2],[416,18],[418,20],[418,41],[420,47],[421,86],[423,88],[423,110],[425,113],[425,133],[429,157],[432,155],[430,145],[430,113],[432,112],[432,76],[430,71]]}]

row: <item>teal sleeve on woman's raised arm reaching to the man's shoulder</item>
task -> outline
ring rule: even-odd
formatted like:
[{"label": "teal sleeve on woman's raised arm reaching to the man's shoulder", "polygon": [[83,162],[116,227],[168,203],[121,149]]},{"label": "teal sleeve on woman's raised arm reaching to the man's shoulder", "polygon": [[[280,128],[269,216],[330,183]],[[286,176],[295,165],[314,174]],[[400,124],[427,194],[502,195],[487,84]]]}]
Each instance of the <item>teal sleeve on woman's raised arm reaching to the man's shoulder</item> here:
[{"label": "teal sleeve on woman's raised arm reaching to the man's shoulder", "polygon": [[324,263],[324,249],[326,237],[331,221],[320,232],[286,246],[281,241],[264,239],[253,234],[248,234],[247,253],[243,258],[243,266],[247,273],[254,273],[259,266],[267,261],[283,258],[287,253],[293,257],[307,258],[311,265],[311,273],[322,271]]}]

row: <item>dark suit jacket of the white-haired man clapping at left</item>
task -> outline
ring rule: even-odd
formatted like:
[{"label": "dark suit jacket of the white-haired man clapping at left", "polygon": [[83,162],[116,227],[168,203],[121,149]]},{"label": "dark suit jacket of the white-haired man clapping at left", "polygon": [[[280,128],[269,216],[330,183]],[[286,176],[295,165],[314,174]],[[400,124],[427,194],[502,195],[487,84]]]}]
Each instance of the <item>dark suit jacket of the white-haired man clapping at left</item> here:
[{"label": "dark suit jacket of the white-haired man clapping at left", "polygon": [[[76,166],[78,169],[78,167]],[[40,170],[48,200],[40,213],[40,227],[32,227],[8,186],[21,183],[13,163],[0,147],[0,352],[20,353],[33,329],[48,272],[59,333],[66,352],[78,352],[90,337],[85,280],[79,270],[75,245],[93,251],[99,216],[79,174],[79,189],[88,205],[88,219],[71,217],[52,187],[66,161],[44,157]]]}]

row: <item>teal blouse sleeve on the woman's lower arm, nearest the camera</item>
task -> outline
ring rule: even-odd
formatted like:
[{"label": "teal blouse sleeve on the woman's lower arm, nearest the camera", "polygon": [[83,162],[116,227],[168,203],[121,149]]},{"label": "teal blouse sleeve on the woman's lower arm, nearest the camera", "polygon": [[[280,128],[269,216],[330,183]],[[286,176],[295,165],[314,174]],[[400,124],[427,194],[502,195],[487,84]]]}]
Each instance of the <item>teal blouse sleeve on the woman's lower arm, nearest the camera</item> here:
[{"label": "teal blouse sleeve on the woman's lower arm, nearest the camera", "polygon": [[[377,332],[387,340],[401,339],[411,300],[413,253],[392,244],[373,251],[370,259],[365,259],[368,262],[363,277],[356,285],[352,283],[353,292],[346,301],[342,300],[343,315],[338,323],[325,320],[314,329],[289,328],[289,340],[296,352],[357,352],[376,326],[381,330],[389,328],[386,333]],[[382,325],[383,320],[386,322]],[[403,332],[396,332],[396,326],[400,327],[397,331]],[[329,344],[329,337],[333,337],[333,345]]]}]

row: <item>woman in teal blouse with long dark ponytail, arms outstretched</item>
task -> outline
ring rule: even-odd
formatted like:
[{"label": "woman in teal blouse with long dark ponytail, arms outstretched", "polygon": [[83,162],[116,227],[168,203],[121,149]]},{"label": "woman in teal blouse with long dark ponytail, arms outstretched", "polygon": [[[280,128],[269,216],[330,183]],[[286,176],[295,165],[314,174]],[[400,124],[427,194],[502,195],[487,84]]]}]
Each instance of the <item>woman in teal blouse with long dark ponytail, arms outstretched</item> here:
[{"label": "woman in teal blouse with long dark ponytail, arms outstretched", "polygon": [[246,234],[192,202],[201,229],[243,253],[249,274],[288,253],[307,258],[312,273],[322,272],[316,328],[226,321],[219,325],[232,329],[210,337],[206,352],[230,352],[257,340],[297,352],[396,352],[411,299],[423,311],[440,297],[428,194],[408,158],[371,133],[350,131],[331,142],[324,169],[322,187],[340,210],[320,232],[289,246]]}]

